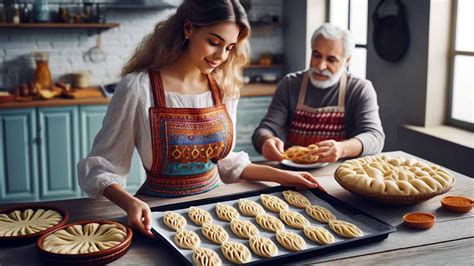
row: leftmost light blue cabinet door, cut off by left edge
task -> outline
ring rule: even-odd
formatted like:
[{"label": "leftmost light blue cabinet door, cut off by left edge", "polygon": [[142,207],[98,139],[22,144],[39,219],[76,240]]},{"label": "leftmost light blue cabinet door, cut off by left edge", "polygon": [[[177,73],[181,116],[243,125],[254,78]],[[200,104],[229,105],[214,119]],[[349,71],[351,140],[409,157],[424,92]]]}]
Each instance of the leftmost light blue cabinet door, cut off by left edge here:
[{"label": "leftmost light blue cabinet door, cut off by left edge", "polygon": [[0,110],[0,202],[33,201],[38,193],[36,110]]}]

